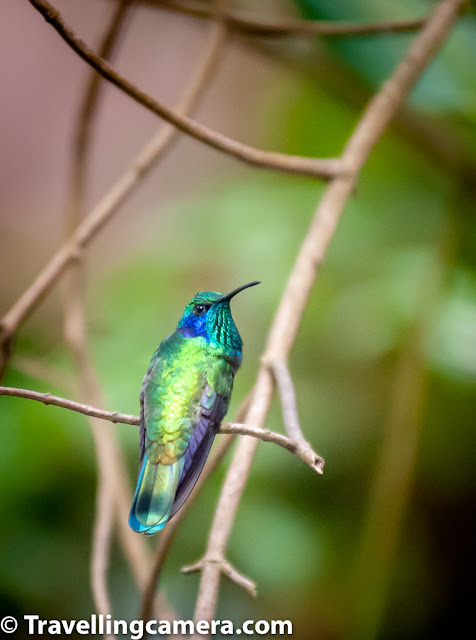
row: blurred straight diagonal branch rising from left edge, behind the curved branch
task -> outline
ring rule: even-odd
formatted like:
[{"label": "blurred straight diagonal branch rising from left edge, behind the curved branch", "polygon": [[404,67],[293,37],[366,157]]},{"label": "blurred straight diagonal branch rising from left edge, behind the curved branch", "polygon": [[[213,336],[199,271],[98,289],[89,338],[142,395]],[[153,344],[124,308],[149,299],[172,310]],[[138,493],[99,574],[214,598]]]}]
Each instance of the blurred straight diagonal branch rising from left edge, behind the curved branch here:
[{"label": "blurred straight diagonal branch rising from left edge, behind the curved branch", "polygon": [[[224,44],[224,31],[219,25],[214,25],[213,31],[214,35],[207,40],[203,57],[199,60],[190,84],[186,87],[184,95],[176,107],[178,112],[186,113],[193,108],[220,58]],[[178,129],[172,125],[166,125],[159,129],[139,153],[131,168],[119,178],[84,218],[69,240],[61,245],[28,289],[0,320],[0,380],[11,356],[12,341],[18,328],[67,272],[68,268],[80,258],[83,249],[89,246],[91,241],[114,217],[127,198],[149,174],[161,155],[177,138],[177,135]]]}]

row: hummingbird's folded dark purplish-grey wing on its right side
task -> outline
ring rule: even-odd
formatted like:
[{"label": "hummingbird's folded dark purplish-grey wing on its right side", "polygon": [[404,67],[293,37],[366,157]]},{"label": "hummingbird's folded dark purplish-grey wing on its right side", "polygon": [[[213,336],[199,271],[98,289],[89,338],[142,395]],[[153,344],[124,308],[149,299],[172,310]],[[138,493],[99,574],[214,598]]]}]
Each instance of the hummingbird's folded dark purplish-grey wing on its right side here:
[{"label": "hummingbird's folded dark purplish-grey wing on its right side", "polygon": [[[211,392],[213,392],[214,398],[213,404],[209,406]],[[228,402],[207,385],[202,395],[200,420],[184,453],[184,467],[170,517],[177,513],[195,486],[227,409]]]}]

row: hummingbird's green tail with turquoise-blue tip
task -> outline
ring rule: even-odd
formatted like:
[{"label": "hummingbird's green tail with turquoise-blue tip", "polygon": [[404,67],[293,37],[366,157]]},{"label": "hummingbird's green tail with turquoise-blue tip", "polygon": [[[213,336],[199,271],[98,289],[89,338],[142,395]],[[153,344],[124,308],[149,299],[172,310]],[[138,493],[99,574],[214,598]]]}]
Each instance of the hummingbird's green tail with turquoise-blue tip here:
[{"label": "hummingbird's green tail with turquoise-blue tip", "polygon": [[153,464],[144,456],[129,515],[129,526],[138,533],[152,535],[165,526],[170,517],[183,458],[174,464]]}]

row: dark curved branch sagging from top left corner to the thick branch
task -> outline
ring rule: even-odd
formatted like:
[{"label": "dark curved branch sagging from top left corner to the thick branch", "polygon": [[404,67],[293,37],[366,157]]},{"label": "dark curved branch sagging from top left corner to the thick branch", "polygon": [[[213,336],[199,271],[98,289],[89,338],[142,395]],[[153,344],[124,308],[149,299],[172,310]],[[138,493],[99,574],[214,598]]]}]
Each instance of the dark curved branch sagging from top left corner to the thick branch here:
[{"label": "dark curved branch sagging from top left corner to the thick branch", "polygon": [[261,167],[273,171],[310,176],[329,180],[339,173],[343,173],[342,163],[337,158],[305,158],[287,155],[273,151],[262,151],[245,145],[233,138],[225,136],[210,127],[199,124],[192,118],[181,115],[159,103],[150,95],[136,87],[121,76],[110,64],[95,55],[75,33],[65,25],[60,13],[46,0],[28,0],[52,25],[63,40],[85,62],[91,65],[106,80],[126,93],[133,100],[141,104],[155,115],[163,118],[180,129],[183,133],[199,140],[208,146],[222,151],[253,167]]}]

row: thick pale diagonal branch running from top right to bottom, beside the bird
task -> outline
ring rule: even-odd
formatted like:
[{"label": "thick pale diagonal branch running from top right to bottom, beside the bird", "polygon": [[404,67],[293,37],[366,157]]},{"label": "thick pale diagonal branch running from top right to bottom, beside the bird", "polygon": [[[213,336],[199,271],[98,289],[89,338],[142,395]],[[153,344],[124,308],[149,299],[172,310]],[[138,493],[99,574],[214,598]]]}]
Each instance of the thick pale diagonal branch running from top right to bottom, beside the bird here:
[{"label": "thick pale diagonal branch running from top right to bottom, beside the bird", "polygon": [[[317,207],[304,239],[268,337],[265,360],[285,360],[294,344],[317,269],[352,194],[359,172],[385,127],[411,88],[446,41],[464,0],[440,2],[392,77],[371,100],[349,139],[343,160],[351,167],[347,176],[332,180]],[[262,427],[273,391],[268,366],[262,364],[245,422]],[[224,557],[238,504],[246,485],[257,440],[242,438],[228,470],[210,532],[206,555]],[[195,620],[210,621],[215,612],[221,572],[208,563],[203,567]]]}]

